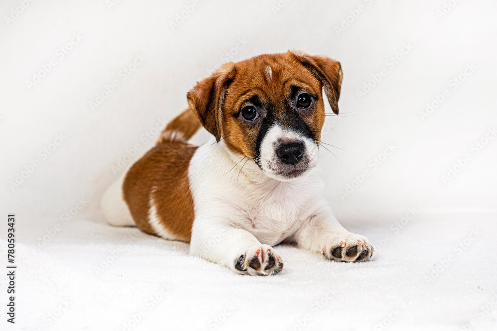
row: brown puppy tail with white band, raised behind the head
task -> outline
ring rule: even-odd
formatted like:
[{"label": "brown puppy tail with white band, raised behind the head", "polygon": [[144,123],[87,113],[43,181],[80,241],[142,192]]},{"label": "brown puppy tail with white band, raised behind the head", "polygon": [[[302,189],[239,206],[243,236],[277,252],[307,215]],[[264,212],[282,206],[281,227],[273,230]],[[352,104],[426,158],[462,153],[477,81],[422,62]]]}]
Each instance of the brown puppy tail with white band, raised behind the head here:
[{"label": "brown puppy tail with white band, raised behind the head", "polygon": [[200,122],[190,108],[176,116],[161,133],[157,144],[187,142],[200,129]]}]

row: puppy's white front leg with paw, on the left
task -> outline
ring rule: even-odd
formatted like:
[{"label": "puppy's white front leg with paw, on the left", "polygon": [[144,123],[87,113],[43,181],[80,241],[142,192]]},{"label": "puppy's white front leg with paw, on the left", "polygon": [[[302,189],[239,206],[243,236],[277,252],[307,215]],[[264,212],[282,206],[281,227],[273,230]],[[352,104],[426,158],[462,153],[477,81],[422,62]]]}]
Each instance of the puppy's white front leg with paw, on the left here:
[{"label": "puppy's white front leg with paw, on the left", "polygon": [[223,224],[194,224],[190,253],[252,276],[276,274],[283,268],[283,260],[271,246],[262,245],[248,231]]}]

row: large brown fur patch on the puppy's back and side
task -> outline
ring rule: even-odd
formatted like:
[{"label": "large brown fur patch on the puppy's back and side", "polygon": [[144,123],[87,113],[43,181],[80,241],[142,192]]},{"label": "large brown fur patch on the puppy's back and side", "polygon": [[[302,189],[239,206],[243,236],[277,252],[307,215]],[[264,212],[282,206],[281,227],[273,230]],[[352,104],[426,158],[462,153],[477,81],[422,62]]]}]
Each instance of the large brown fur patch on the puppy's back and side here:
[{"label": "large brown fur patch on the puppy's back and side", "polygon": [[168,232],[190,241],[194,212],[188,164],[197,148],[183,142],[159,144],[130,168],[123,193],[138,228],[159,235],[149,224],[152,197],[157,216]]}]

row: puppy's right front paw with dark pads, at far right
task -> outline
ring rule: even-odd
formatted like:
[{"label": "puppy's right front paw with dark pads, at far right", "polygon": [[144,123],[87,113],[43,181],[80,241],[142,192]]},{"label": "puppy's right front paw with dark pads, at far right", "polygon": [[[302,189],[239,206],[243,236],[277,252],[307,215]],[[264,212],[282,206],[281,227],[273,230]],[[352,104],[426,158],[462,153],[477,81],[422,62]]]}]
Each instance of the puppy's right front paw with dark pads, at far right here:
[{"label": "puppy's right front paw with dark pads, at far right", "polygon": [[351,232],[332,236],[321,249],[330,260],[344,262],[363,262],[373,256],[374,248],[366,237]]}]

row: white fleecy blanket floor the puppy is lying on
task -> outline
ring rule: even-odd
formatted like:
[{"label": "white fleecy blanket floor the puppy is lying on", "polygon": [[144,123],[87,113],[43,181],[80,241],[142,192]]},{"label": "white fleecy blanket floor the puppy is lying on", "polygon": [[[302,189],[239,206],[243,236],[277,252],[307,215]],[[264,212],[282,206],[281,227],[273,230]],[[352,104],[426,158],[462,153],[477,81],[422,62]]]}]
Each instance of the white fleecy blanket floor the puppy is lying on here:
[{"label": "white fleecy blanket floor the puppy is lying on", "polygon": [[497,330],[496,217],[406,221],[345,223],[376,247],[367,263],[277,246],[285,267],[269,277],[102,220],[74,218],[40,248],[61,222],[18,221],[31,235],[17,245],[14,330]]}]

